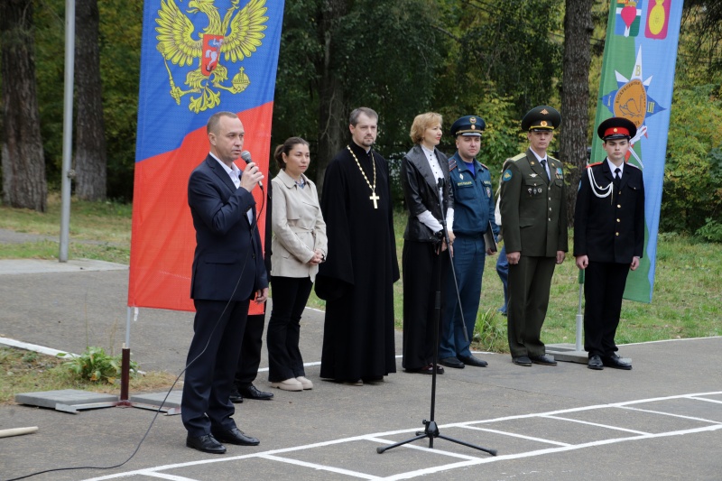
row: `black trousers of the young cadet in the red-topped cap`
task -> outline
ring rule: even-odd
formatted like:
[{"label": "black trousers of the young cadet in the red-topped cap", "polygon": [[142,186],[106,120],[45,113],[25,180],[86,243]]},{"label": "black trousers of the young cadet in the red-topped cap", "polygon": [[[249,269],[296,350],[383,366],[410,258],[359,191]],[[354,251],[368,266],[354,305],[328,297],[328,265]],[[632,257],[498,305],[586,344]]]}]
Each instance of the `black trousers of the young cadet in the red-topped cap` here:
[{"label": "black trousers of the young cadet in the red-topped cap", "polygon": [[628,273],[629,264],[592,261],[584,271],[584,350],[589,357],[617,351],[615,335]]}]

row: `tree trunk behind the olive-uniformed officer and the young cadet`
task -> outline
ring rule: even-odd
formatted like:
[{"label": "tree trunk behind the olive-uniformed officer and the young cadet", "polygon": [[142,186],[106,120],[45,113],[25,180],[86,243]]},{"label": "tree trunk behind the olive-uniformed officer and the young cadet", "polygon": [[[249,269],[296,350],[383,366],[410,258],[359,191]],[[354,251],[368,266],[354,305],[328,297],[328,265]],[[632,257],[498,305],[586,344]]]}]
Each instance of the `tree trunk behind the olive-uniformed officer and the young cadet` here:
[{"label": "tree trunk behind the olive-uniformed officer and the young cadet", "polygon": [[577,187],[587,164],[587,125],[589,101],[589,41],[592,23],[592,0],[566,0],[564,14],[564,59],[561,78],[560,137],[561,161],[572,165],[569,169],[567,213],[569,225],[574,222]]}]

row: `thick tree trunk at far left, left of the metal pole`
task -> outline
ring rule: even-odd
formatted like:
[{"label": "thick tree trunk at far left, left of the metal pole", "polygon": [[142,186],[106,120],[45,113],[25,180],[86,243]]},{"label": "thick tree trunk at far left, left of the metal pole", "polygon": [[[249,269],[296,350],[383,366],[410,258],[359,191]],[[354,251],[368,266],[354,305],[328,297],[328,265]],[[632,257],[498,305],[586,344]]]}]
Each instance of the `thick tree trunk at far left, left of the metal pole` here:
[{"label": "thick tree trunk at far left, left of the metal pole", "polygon": [[3,79],[3,201],[45,211],[48,185],[35,86],[32,0],[0,2]]}]

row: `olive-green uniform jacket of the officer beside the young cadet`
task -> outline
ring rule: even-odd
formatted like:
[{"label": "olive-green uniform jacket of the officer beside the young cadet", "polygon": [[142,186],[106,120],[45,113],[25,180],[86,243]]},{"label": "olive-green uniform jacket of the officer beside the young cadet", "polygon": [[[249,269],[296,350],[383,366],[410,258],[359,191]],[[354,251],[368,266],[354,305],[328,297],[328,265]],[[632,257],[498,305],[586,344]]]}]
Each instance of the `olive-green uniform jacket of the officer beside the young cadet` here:
[{"label": "olive-green uniform jacket of the officer beside the young cadet", "polygon": [[555,257],[567,252],[567,195],[561,162],[547,155],[551,179],[531,149],[504,162],[502,233],[506,252]]}]

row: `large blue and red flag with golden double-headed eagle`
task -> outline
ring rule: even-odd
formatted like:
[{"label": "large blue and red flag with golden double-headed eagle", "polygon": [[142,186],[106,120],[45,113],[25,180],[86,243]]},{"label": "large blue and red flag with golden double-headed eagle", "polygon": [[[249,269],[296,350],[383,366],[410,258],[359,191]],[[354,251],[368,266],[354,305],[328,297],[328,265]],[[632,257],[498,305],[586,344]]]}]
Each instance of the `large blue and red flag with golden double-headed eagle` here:
[{"label": "large blue and red flag with golden double-headed eagle", "polygon": [[268,172],[282,18],[283,0],[145,1],[128,306],[194,310],[187,188],[209,116],[236,112],[244,149]]}]

